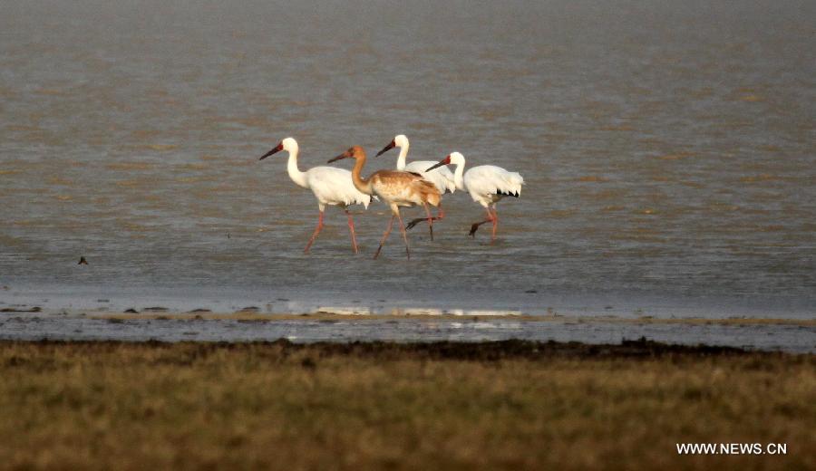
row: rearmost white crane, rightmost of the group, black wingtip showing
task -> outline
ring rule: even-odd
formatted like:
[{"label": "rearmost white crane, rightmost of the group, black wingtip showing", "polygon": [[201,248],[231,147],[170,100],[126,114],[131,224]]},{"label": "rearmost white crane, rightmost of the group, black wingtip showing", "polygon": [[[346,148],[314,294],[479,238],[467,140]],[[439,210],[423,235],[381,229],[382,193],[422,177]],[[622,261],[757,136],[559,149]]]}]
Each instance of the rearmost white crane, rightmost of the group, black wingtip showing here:
[{"label": "rearmost white crane, rightmost of the group, black wingtip showing", "polygon": [[[496,240],[496,228],[499,226],[499,215],[496,213],[496,203],[503,197],[520,197],[521,186],[524,185],[524,178],[517,172],[509,172],[504,168],[495,165],[480,165],[472,167],[464,173],[465,160],[459,152],[452,152],[437,164],[427,170],[442,167],[443,165],[455,165],[453,181],[458,189],[467,190],[471,194],[473,201],[485,208],[488,218],[484,221],[473,223],[469,235],[475,237],[476,231],[484,223],[493,223],[493,233],[491,243]],[[462,177],[462,174],[464,176]],[[492,211],[491,211],[492,208]],[[415,226],[416,222],[408,226]]]}]

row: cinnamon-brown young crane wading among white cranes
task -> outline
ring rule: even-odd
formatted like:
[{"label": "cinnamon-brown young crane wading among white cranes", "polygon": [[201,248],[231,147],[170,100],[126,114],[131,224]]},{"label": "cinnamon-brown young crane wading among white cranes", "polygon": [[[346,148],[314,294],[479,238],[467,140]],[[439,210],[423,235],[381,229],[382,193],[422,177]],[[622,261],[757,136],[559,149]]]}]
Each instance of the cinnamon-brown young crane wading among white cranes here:
[{"label": "cinnamon-brown young crane wading among white cranes", "polygon": [[402,172],[395,170],[379,170],[371,174],[369,178],[360,177],[360,172],[365,165],[365,151],[360,146],[355,146],[344,153],[329,160],[329,163],[339,159],[355,159],[355,168],[352,169],[352,181],[355,187],[366,195],[376,195],[380,197],[389,207],[391,207],[391,221],[385,229],[383,240],[377,247],[374,258],[380,255],[385,240],[391,234],[393,219],[396,217],[400,221],[400,232],[403,233],[405,241],[405,254],[411,259],[411,251],[408,248],[408,235],[403,226],[403,217],[400,216],[400,207],[413,207],[422,205],[425,214],[428,215],[428,224],[431,226],[433,234],[433,218],[428,205],[437,207],[440,201],[440,192],[432,183],[424,180],[418,173]]}]

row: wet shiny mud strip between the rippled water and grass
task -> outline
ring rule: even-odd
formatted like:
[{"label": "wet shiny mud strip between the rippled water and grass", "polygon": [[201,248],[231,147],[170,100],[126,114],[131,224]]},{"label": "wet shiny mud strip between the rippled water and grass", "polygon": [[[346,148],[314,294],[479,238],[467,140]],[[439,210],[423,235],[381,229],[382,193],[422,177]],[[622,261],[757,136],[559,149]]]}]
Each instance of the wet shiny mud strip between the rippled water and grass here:
[{"label": "wet shiny mud strip between the rippled water and grass", "polygon": [[17,312],[0,315],[0,339],[64,341],[581,341],[646,337],[685,345],[816,351],[816,321],[465,315],[270,315],[249,312]]}]

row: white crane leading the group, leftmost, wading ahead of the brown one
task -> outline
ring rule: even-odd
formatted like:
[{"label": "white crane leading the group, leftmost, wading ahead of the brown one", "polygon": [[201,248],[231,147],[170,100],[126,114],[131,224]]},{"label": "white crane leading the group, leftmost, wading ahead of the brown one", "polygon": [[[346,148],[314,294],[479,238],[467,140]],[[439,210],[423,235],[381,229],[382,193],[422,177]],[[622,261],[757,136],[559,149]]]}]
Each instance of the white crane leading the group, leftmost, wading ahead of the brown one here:
[{"label": "white crane leading the group, leftmost, wading ahead of the brown one", "polygon": [[351,231],[352,247],[357,253],[357,238],[355,236],[355,221],[352,219],[348,207],[351,205],[363,205],[366,209],[371,203],[371,196],[365,195],[355,188],[351,179],[351,172],[344,168],[335,167],[314,167],[309,168],[305,172],[297,168],[297,141],[292,138],[281,140],[276,147],[269,150],[266,154],[261,156],[260,160],[279,152],[286,150],[289,153],[289,161],[287,163],[287,172],[289,178],[296,183],[298,187],[304,187],[312,190],[317,198],[317,207],[320,209],[320,216],[317,217],[317,227],[315,232],[309,238],[308,244],[304,249],[304,253],[309,253],[309,247],[315,242],[320,230],[323,229],[323,215],[326,205],[339,206],[345,211],[348,216],[348,229]]}]

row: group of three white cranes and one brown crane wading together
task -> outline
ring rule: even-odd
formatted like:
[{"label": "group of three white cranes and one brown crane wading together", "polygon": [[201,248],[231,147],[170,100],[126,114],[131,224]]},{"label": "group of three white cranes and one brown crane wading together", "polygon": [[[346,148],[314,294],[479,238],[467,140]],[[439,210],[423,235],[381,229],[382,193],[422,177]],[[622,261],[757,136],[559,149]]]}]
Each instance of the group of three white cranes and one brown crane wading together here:
[{"label": "group of three white cranes and one brown crane wading together", "polygon": [[[261,160],[281,151],[289,154],[287,172],[289,178],[299,187],[312,190],[317,198],[317,207],[320,214],[317,218],[315,232],[309,237],[304,252],[315,242],[320,230],[323,229],[323,218],[326,206],[342,207],[348,217],[348,229],[351,234],[352,248],[358,252],[355,235],[355,221],[348,207],[363,205],[366,209],[373,198],[383,201],[391,208],[391,220],[388,223],[383,240],[377,247],[374,258],[380,255],[388,235],[393,228],[393,220],[400,223],[400,232],[405,242],[405,254],[411,258],[408,248],[408,234],[413,226],[427,221],[428,230],[433,240],[433,221],[444,217],[442,211],[442,195],[453,193],[455,190],[467,191],[473,201],[479,203],[487,212],[487,219],[473,223],[470,235],[474,236],[479,226],[492,223],[491,242],[496,240],[496,229],[499,225],[499,216],[496,213],[496,203],[503,197],[520,197],[524,178],[517,172],[509,172],[494,165],[481,165],[464,171],[465,159],[459,152],[452,152],[440,161],[417,160],[405,163],[409,148],[408,138],[400,134],[377,153],[380,156],[393,148],[399,148],[396,170],[378,170],[364,178],[361,173],[365,165],[365,151],[360,146],[349,148],[328,163],[340,159],[355,159],[355,166],[351,171],[335,167],[314,167],[305,172],[297,168],[297,141],[292,138],[281,140],[276,147],[261,156]],[[451,172],[446,166],[455,166]],[[426,217],[413,219],[408,225],[403,224],[400,207],[423,207]],[[431,207],[436,207],[436,216],[432,216]]]}]

